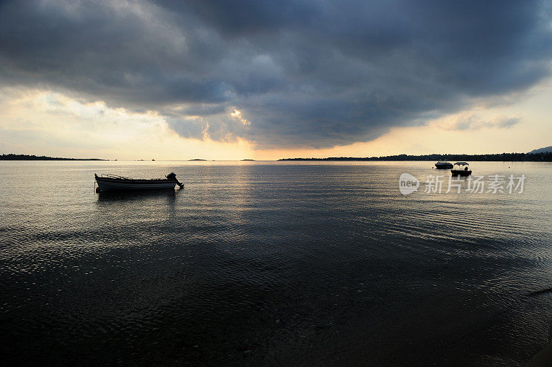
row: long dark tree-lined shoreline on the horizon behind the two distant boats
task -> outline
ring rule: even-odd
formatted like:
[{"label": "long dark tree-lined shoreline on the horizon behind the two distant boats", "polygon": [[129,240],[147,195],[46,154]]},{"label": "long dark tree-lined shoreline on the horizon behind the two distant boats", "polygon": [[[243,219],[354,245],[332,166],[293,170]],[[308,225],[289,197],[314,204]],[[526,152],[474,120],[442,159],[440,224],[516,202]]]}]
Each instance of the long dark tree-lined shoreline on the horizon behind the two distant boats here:
[{"label": "long dark tree-lined shoreline on the horizon behind the two distant boats", "polygon": [[[542,148],[546,149],[546,148]],[[383,157],[284,158],[279,161],[531,161],[550,162],[552,151],[530,153],[499,153],[493,155],[386,155]]]}]

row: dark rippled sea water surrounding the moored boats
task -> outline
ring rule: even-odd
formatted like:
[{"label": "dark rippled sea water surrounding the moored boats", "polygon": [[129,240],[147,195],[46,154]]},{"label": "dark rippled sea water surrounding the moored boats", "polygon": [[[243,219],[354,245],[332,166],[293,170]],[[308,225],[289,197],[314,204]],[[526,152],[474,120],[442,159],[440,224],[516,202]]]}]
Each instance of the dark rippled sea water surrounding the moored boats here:
[{"label": "dark rippled sea water surrounding the moored boats", "polygon": [[552,164],[433,163],[1,161],[2,360],[521,366],[552,336]]}]

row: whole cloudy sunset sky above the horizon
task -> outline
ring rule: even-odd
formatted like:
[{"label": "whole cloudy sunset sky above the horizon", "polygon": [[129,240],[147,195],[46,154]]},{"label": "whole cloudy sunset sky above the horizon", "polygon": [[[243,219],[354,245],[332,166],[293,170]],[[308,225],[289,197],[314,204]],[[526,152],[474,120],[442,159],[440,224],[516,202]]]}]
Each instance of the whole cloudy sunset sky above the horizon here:
[{"label": "whole cloudy sunset sky above the horizon", "polygon": [[0,153],[552,145],[551,1],[0,1]]}]

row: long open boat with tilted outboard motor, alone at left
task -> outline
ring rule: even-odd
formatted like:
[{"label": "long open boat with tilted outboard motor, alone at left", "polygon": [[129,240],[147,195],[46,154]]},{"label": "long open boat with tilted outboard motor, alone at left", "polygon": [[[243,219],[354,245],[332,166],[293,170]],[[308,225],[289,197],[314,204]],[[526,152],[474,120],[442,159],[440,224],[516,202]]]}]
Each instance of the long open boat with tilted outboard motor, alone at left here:
[{"label": "long open boat with tilted outboard motor, alone at left", "polygon": [[173,189],[175,185],[180,188],[184,187],[177,180],[177,175],[174,172],[170,172],[166,175],[165,179],[130,179],[128,177],[122,177],[117,175],[101,175],[94,174],[96,182],[98,183],[97,192],[99,191],[125,191],[125,190],[159,190],[159,189]]}]

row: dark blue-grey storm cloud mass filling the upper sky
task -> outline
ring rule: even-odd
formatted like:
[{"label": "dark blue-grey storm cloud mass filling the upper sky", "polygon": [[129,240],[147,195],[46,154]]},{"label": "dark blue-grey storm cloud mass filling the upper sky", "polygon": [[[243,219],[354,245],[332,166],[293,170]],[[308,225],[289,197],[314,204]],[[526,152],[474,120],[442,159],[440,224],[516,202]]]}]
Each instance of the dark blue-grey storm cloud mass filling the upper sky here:
[{"label": "dark blue-grey storm cloud mass filling the upper sky", "polygon": [[[185,137],[328,147],[538,83],[549,75],[549,9],[546,1],[5,1],[0,82],[157,110]],[[235,108],[250,125],[230,116]]]}]

